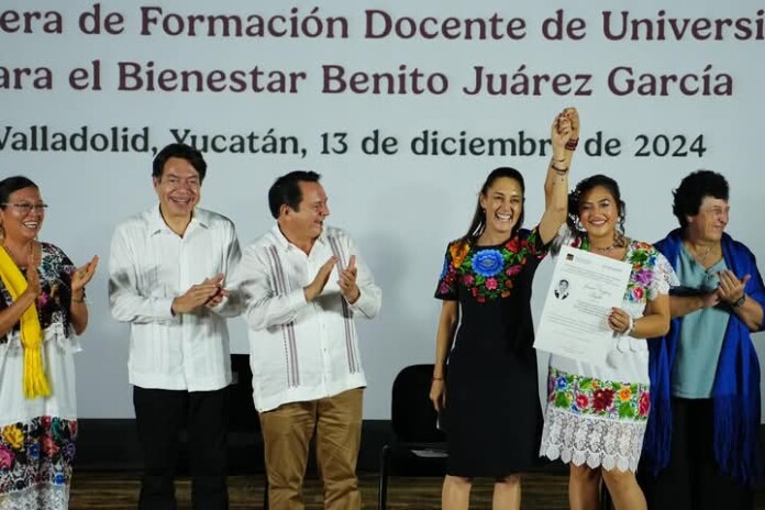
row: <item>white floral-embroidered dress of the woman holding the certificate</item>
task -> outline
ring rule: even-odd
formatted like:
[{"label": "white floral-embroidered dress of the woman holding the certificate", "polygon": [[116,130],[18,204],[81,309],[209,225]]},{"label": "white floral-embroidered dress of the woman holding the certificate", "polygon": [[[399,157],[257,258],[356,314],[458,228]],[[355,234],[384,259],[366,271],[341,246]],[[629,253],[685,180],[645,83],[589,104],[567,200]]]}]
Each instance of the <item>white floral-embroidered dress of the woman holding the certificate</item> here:
[{"label": "white floral-embroidered dress of the woman holding the certificate", "polygon": [[[578,240],[570,242],[570,234],[566,239],[566,244],[580,247]],[[636,320],[648,301],[668,293],[676,277],[667,259],[647,243],[629,241],[624,260],[632,271],[621,308]],[[540,455],[634,472],[650,409],[647,341],[614,334],[603,347],[605,366],[551,356]]]}]

